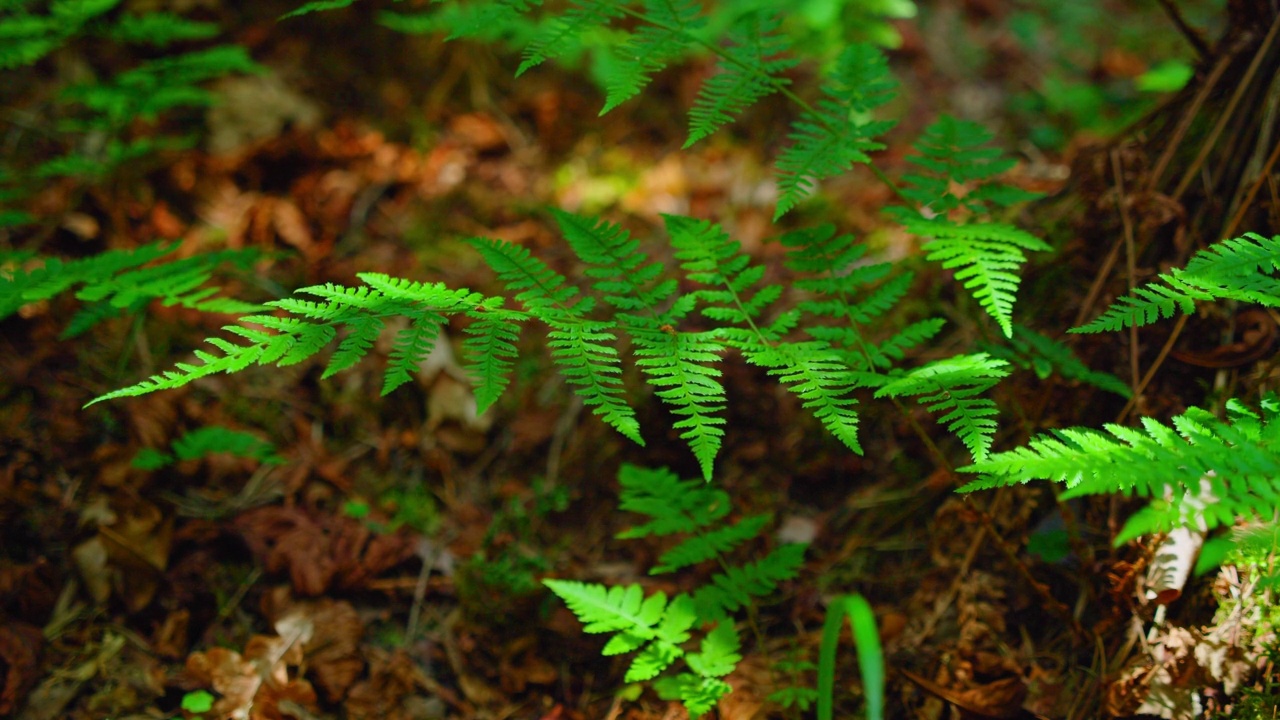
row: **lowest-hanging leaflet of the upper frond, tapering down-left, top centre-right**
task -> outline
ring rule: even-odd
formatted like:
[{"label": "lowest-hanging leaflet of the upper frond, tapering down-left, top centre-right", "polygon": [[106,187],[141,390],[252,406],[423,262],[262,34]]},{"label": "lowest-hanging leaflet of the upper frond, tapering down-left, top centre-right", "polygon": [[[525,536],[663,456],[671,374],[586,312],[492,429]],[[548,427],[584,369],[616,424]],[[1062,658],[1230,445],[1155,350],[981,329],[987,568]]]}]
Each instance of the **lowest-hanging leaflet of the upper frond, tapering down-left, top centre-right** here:
[{"label": "lowest-hanging leaflet of the upper frond, tapering down-left, top centre-right", "polygon": [[876,108],[893,99],[897,83],[884,54],[869,44],[854,44],[841,53],[826,78],[817,106],[791,127],[791,146],[778,158],[777,220],[813,192],[818,183],[869,163],[868,152],[882,150],[876,140],[893,127],[872,120]]}]

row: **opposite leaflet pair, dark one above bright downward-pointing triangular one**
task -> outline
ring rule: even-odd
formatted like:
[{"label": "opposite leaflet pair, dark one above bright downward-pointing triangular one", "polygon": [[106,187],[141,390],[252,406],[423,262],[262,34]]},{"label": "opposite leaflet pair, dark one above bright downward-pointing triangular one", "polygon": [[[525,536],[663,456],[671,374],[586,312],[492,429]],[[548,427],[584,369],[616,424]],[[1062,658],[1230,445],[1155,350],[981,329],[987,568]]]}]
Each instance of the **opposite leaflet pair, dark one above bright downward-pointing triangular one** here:
[{"label": "opposite leaflet pair, dark one above bright downward-pointing triangular one", "polygon": [[[1018,273],[1027,261],[1024,251],[1050,250],[1036,236],[998,222],[961,223],[952,213],[989,217],[1015,204],[1034,199],[992,178],[1012,167],[1000,151],[983,147],[991,133],[975,123],[943,115],[915,142],[911,158],[919,170],[908,174],[902,195],[915,201],[914,209],[895,208],[893,214],[914,234],[932,237],[923,249],[929,260],[956,270],[956,279],[1011,337],[1014,295],[1021,282]],[[954,183],[969,183],[966,193],[956,193]]]}]

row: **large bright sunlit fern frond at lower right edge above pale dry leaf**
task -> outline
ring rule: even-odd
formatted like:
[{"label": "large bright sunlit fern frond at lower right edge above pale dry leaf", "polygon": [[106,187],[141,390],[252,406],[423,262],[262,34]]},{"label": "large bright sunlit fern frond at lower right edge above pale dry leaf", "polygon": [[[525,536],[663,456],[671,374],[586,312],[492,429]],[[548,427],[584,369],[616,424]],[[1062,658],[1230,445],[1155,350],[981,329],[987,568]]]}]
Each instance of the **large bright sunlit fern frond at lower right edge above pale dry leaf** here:
[{"label": "large bright sunlit fern frond at lower right edge above pale dry leaf", "polygon": [[1048,479],[1066,484],[1066,498],[1108,492],[1152,498],[1116,542],[1175,527],[1211,529],[1239,516],[1272,518],[1280,511],[1280,400],[1266,396],[1261,415],[1234,400],[1228,411],[1229,421],[1190,407],[1171,425],[1143,418],[1142,429],[1055,430],[963,468],[980,478],[960,489]]}]

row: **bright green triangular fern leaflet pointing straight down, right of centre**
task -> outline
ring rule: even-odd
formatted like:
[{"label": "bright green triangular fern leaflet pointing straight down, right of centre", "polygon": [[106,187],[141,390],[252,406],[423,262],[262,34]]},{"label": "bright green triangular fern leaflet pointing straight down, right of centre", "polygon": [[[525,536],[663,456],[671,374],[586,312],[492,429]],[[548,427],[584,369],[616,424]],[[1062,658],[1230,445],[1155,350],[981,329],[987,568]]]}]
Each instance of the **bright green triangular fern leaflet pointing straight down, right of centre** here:
[{"label": "bright green triangular fern leaflet pointing straight down, right of centre", "polygon": [[904,223],[915,234],[933,237],[924,243],[928,260],[956,270],[974,300],[1005,333],[1012,337],[1014,300],[1021,283],[1019,270],[1027,261],[1023,250],[1051,250],[1038,237],[1004,223],[955,224],[945,220],[911,219]]}]

